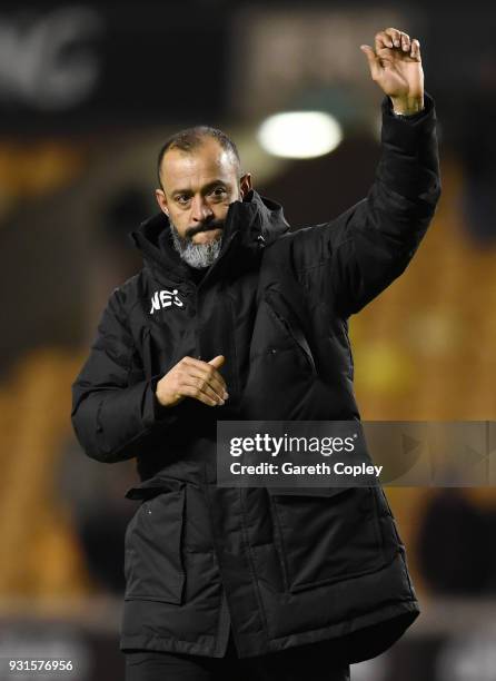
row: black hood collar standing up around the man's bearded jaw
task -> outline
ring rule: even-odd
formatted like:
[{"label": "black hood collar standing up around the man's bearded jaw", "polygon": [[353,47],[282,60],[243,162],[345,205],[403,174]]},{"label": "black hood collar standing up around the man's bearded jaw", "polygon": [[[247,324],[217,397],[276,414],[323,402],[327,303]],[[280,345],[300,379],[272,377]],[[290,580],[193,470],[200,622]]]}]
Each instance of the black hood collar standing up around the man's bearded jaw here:
[{"label": "black hood collar standing up around the man's bearded jaw", "polygon": [[[159,236],[163,230],[170,233],[170,221],[166,214],[160,211],[130,231],[129,237],[141,250],[145,264],[153,270],[167,273],[173,279],[189,277],[189,268],[173,248],[171,239],[162,241],[169,247],[160,247]],[[289,224],[282,207],[251,189],[242,201],[234,201],[229,206],[219,257],[227,250],[229,243],[236,240],[236,253],[245,260],[245,257],[259,253],[288,230]]]}]

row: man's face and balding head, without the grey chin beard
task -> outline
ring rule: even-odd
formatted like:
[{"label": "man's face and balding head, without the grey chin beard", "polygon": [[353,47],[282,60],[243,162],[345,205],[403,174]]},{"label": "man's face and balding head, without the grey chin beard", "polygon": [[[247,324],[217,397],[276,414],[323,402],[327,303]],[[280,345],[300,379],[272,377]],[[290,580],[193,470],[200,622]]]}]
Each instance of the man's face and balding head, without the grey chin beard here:
[{"label": "man's face and balding head, without the grey chin beard", "polygon": [[236,159],[209,137],[192,151],[167,151],[161,180],[163,189],[156,191],[161,210],[178,236],[196,245],[221,238],[229,205],[251,188],[250,176],[239,178]]}]

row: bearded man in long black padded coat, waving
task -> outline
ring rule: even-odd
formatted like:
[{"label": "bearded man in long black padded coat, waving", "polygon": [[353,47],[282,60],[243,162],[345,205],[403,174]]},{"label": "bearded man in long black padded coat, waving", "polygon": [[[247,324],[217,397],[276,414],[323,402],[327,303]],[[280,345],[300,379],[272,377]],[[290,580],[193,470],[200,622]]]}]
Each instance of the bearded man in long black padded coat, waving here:
[{"label": "bearded man in long black padded coat, waving", "polygon": [[73,384],[87,454],[136,456],[142,481],[127,493],[141,501],[125,540],[128,679],[348,679],[419,613],[380,487],[216,484],[217,420],[359,418],[348,317],[405,269],[434,215],[418,40],[388,28],[361,50],[386,95],[367,198],[290,233],[225,135],[172,137],[160,214],[132,233],[145,267],[113,290]]}]

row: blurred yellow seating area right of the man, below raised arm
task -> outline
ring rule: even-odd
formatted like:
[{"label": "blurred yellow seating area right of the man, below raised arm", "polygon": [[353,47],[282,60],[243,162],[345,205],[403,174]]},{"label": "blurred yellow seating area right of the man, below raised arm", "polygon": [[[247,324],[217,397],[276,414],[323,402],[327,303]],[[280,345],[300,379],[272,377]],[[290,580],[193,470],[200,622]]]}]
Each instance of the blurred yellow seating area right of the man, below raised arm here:
[{"label": "blurred yellow seating area right of the man, below raised arm", "polygon": [[[364,421],[496,420],[496,250],[469,243],[458,203],[463,174],[442,168],[436,216],[405,274],[351,318],[355,388]],[[387,487],[413,579],[427,590],[416,537],[436,488]],[[496,506],[494,487],[465,495]]]}]

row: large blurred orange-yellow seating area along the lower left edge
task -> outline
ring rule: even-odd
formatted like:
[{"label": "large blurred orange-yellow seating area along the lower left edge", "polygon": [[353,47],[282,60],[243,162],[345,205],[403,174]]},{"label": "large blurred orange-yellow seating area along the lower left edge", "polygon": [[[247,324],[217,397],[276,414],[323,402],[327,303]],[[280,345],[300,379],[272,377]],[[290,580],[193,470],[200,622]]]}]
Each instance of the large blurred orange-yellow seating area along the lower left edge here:
[{"label": "large blurred orange-yellow seating area along the lower left edge", "polygon": [[71,519],[54,488],[70,434],[70,383],[82,357],[30,353],[0,391],[0,596],[83,595],[91,590]]}]

